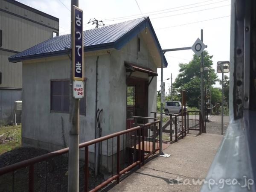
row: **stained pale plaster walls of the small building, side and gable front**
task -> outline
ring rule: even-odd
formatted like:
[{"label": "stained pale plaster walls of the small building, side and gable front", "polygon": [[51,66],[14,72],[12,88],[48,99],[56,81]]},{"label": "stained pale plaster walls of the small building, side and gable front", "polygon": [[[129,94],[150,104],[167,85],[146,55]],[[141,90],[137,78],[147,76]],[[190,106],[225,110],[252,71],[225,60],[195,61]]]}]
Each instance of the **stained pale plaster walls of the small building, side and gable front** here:
[{"label": "stained pale plaster walls of the small building, side and gable front", "polygon": [[[80,143],[95,137],[96,59],[97,56],[86,56],[84,59],[87,107],[86,116],[80,116]],[[109,53],[106,51],[105,54],[99,55],[97,108],[103,109],[100,118],[102,136],[125,130],[127,75],[125,61],[157,71],[142,38],[138,58],[137,38],[132,39],[121,50],[113,50]],[[69,79],[69,74],[68,59],[23,64],[22,140],[24,146],[30,145],[54,151],[64,147],[64,139],[68,144],[69,114],[50,112],[50,80]],[[148,78],[150,79],[151,77]],[[156,86],[157,78],[154,77],[148,90],[148,116],[152,116],[150,111],[156,110]],[[112,147],[111,142],[109,142],[110,146]],[[106,148],[104,143],[103,154],[106,153]],[[89,150],[93,152],[94,148],[90,147]]]}]

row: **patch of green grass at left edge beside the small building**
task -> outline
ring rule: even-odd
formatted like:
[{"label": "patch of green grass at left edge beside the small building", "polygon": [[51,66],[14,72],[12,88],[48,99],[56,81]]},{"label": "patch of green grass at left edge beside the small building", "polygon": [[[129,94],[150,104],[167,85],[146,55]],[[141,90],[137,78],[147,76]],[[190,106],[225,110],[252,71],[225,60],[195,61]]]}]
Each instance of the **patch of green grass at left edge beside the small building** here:
[{"label": "patch of green grass at left edge beside the small building", "polygon": [[[17,130],[15,130],[17,129]],[[15,131],[14,131],[15,130]],[[10,131],[10,132],[9,132]],[[7,133],[9,132],[9,133]],[[7,133],[7,134],[4,134]],[[3,135],[4,134],[4,135]],[[17,126],[3,126],[0,127],[0,154],[10,151],[12,149],[21,147],[21,125]],[[2,143],[2,139],[9,137],[9,141]]]}]

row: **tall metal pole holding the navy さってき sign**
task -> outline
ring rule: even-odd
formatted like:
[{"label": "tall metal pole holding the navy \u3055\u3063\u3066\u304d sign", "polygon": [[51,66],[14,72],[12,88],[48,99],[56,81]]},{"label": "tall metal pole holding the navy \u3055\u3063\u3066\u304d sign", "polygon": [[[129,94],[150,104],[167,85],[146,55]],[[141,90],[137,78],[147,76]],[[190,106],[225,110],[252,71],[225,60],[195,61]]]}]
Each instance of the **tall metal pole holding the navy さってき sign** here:
[{"label": "tall metal pole holding the navy \u3055\u3063\u3066\u304d sign", "polygon": [[[73,35],[73,5],[79,6],[79,0],[71,0],[71,36]],[[71,38],[73,45],[73,38]],[[79,99],[73,99],[72,61],[70,67],[70,137],[68,156],[68,192],[79,191]]]}]

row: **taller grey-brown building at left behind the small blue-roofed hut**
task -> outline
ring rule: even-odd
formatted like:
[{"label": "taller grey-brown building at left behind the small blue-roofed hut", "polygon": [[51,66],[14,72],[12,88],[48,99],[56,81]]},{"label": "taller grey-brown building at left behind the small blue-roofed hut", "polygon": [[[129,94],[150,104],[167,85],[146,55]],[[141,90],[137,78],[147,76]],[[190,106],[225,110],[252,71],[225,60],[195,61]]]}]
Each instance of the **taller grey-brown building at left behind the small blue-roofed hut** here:
[{"label": "taller grey-brown building at left behind the small blue-roofed hut", "polygon": [[22,100],[22,63],[8,58],[58,33],[58,18],[15,0],[0,1],[0,125],[13,121],[14,102]]}]

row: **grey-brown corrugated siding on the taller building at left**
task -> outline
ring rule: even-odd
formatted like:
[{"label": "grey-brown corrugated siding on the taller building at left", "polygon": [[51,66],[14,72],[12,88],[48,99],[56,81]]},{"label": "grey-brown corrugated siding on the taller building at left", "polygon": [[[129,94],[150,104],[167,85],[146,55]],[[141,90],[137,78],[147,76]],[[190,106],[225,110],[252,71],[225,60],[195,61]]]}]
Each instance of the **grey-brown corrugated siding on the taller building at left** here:
[{"label": "grey-brown corrugated siding on the taller building at left", "polygon": [[[0,29],[3,31],[3,45],[1,48],[3,49],[21,52],[52,38],[54,29],[49,27],[58,28],[58,21],[49,19],[48,17],[44,17],[4,0],[0,0],[0,9],[6,11],[0,10]],[[7,12],[12,12],[21,17],[43,23],[49,27]],[[22,64],[10,63],[8,58],[12,55],[15,54],[13,52],[0,50],[0,71],[2,72],[2,84],[0,84],[0,88],[22,88]]]}]

